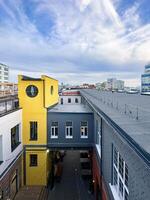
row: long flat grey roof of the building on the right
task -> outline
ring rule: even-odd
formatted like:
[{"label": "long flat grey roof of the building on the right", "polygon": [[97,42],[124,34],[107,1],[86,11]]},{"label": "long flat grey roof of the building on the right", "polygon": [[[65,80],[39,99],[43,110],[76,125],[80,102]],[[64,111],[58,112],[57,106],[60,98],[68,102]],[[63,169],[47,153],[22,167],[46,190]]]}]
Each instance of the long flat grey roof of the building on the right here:
[{"label": "long flat grey roof of the building on the right", "polygon": [[150,96],[91,89],[81,94],[150,153]]}]

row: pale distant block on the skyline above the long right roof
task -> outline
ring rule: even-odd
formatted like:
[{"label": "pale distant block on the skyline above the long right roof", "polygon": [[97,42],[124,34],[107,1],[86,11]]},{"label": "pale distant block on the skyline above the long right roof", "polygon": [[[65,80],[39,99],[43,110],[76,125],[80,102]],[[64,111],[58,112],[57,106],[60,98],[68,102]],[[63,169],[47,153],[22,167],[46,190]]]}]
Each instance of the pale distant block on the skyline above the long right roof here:
[{"label": "pale distant block on the skyline above the long right roof", "polygon": [[117,80],[116,78],[109,78],[106,82],[106,89],[109,91],[112,90],[124,90],[124,81]]}]

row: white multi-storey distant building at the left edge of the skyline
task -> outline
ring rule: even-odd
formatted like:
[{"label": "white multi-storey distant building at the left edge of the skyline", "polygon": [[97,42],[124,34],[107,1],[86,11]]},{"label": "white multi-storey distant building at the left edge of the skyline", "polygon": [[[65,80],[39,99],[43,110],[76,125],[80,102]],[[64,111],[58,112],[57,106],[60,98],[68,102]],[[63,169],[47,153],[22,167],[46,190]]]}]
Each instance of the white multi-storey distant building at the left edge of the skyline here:
[{"label": "white multi-storey distant building at the left edge of the skyline", "polygon": [[9,67],[0,63],[0,83],[8,83],[9,81]]}]

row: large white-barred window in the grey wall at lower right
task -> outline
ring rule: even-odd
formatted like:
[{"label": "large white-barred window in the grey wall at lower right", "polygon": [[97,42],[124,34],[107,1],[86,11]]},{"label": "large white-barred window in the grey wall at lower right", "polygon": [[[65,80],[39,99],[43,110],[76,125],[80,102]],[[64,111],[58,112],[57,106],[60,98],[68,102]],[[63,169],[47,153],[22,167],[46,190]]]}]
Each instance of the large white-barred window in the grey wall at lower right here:
[{"label": "large white-barred window in the grey wall at lower right", "polygon": [[128,200],[128,166],[116,148],[113,148],[113,186],[121,200]]}]

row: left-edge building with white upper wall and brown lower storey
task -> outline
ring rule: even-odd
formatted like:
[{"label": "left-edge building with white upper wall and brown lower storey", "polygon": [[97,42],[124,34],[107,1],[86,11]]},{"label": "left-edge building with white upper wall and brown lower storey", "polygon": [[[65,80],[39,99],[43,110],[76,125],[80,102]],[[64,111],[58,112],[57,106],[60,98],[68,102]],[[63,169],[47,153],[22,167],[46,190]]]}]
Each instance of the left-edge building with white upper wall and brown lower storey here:
[{"label": "left-edge building with white upper wall and brown lower storey", "polygon": [[22,110],[18,99],[0,99],[0,199],[13,199],[22,185]]}]

